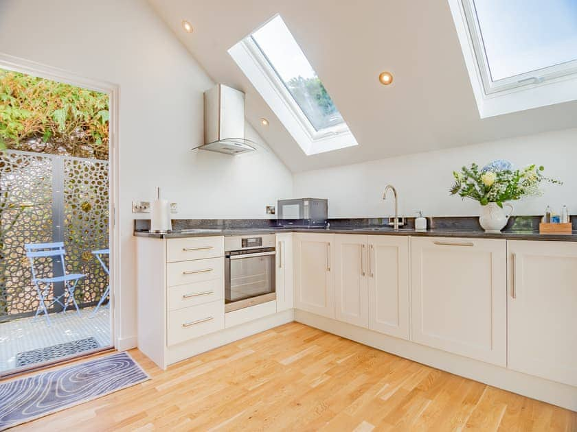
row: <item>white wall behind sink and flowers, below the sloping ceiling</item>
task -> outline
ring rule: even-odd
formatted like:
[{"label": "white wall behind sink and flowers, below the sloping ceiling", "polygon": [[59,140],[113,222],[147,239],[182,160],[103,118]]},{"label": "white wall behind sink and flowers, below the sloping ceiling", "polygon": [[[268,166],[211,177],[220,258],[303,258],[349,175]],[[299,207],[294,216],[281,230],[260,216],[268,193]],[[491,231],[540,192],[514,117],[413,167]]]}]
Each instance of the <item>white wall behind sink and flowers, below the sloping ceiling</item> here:
[{"label": "white wall behind sink and flowers, below the sloping ceiling", "polygon": [[[386,145],[386,139],[383,142]],[[476,202],[449,195],[452,172],[495,159],[510,160],[516,167],[544,165],[545,175],[564,182],[547,185],[541,197],[513,202],[515,214],[539,215],[547,204],[558,211],[566,204],[577,213],[577,129],[295,173],[293,192],[328,198],[330,217],[379,217],[393,213],[392,201],[381,200],[391,183],[398,189],[401,214],[422,210],[425,215],[473,216],[479,215]]]}]

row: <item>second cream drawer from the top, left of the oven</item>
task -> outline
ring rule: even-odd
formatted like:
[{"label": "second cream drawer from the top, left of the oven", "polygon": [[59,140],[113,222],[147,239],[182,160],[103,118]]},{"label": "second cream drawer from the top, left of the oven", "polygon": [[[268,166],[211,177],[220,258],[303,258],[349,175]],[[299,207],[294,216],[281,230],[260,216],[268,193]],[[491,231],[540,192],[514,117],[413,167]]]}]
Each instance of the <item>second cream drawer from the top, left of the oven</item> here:
[{"label": "second cream drawer from the top, left of the oven", "polygon": [[211,258],[183,261],[181,263],[168,263],[166,265],[166,274],[166,285],[168,285],[168,287],[203,282],[204,280],[223,280],[225,274],[225,259]]}]

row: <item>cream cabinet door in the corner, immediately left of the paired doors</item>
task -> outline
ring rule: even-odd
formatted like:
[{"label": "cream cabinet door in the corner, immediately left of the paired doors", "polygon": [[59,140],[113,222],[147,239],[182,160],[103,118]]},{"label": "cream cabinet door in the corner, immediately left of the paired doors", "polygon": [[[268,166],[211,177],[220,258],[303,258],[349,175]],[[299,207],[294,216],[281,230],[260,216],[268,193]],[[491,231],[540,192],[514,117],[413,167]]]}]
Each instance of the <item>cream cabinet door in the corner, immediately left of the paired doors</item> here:
[{"label": "cream cabinet door in the corner, immediately left of the paired doors", "polygon": [[295,308],[324,317],[335,317],[335,235],[293,235]]}]

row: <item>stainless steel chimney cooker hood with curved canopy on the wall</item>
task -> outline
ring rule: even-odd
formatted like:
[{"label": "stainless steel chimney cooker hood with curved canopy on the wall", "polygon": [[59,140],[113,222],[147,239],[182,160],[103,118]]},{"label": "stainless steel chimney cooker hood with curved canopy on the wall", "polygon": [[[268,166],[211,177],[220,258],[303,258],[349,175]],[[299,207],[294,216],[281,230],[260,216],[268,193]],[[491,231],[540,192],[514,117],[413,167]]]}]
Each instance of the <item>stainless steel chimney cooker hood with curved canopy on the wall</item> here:
[{"label": "stainless steel chimney cooker hood with curved canopy on the wall", "polygon": [[216,84],[204,93],[205,143],[194,149],[236,156],[254,152],[256,143],[245,139],[245,93]]}]

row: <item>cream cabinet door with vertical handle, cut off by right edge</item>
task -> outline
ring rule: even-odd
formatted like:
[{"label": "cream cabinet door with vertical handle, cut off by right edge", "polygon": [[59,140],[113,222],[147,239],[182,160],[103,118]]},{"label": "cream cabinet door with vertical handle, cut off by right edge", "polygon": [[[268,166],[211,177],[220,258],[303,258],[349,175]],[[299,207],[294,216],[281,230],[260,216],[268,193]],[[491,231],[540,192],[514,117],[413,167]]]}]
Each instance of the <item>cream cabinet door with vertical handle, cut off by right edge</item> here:
[{"label": "cream cabinet door with vertical handle, cut off by right edge", "polygon": [[508,368],[577,386],[577,243],[508,241]]}]

